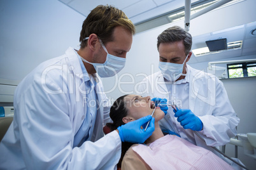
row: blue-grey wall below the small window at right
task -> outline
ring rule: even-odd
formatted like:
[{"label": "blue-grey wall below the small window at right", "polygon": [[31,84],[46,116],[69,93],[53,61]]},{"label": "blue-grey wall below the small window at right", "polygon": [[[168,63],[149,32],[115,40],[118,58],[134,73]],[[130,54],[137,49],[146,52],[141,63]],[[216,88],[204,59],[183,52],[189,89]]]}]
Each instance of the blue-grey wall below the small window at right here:
[{"label": "blue-grey wall below the small window at right", "polygon": [[[256,133],[256,77],[222,79],[229,100],[240,118],[238,133]],[[226,145],[226,154],[234,157],[234,145]],[[256,160],[243,154],[243,148],[238,147],[238,158],[248,169],[256,168]]]}]

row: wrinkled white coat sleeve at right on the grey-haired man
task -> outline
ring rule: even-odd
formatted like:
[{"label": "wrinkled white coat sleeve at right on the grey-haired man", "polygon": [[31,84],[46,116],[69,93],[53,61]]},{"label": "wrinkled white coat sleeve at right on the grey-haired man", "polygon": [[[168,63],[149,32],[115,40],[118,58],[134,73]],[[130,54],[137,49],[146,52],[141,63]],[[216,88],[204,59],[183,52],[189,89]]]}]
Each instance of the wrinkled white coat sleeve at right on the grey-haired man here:
[{"label": "wrinkled white coat sleeve at right on the grey-haired man", "polygon": [[230,138],[236,135],[236,126],[239,124],[239,118],[232,108],[223,83],[217,78],[215,81],[215,106],[211,114],[199,115],[203,122],[203,131],[199,133],[210,146],[229,143]]}]

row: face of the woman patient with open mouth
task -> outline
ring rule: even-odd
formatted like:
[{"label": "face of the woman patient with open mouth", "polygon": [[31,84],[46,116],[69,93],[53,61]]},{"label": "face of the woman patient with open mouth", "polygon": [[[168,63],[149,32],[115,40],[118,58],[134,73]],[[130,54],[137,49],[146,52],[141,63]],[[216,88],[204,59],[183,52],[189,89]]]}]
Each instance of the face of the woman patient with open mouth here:
[{"label": "face of the woman patient with open mouth", "polygon": [[[127,95],[124,100],[128,110],[127,116],[130,117],[132,121],[145,117],[146,115],[151,115],[155,108],[154,102],[150,100],[150,96],[143,98],[139,95]],[[153,117],[155,117],[155,121],[159,121],[164,117],[164,112],[157,107]]]}]

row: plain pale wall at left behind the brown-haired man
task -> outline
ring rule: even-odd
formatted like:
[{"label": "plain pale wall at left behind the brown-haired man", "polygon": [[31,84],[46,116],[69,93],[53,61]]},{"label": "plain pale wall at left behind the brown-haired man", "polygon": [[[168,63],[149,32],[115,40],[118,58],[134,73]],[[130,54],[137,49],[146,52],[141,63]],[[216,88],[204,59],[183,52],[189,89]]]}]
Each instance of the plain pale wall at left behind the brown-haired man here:
[{"label": "plain pale wall at left behind the brown-haired man", "polygon": [[0,9],[0,79],[21,81],[79,42],[85,17],[57,0],[1,0]]}]

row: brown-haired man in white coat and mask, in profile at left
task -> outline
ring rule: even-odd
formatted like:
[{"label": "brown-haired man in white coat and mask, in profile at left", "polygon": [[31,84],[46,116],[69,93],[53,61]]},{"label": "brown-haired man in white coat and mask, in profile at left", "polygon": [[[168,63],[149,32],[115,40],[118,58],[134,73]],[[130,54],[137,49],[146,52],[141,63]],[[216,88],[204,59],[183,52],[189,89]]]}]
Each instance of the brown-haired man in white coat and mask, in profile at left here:
[{"label": "brown-haired man in white coat and mask, in profile at left", "polygon": [[134,32],[122,11],[97,6],[83,22],[79,50],[41,63],[18,84],[0,169],[116,169],[122,141],[143,143],[152,134],[148,116],[103,137],[110,101],[97,74],[124,67]]}]

